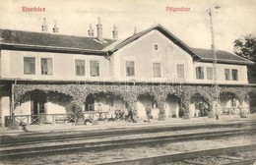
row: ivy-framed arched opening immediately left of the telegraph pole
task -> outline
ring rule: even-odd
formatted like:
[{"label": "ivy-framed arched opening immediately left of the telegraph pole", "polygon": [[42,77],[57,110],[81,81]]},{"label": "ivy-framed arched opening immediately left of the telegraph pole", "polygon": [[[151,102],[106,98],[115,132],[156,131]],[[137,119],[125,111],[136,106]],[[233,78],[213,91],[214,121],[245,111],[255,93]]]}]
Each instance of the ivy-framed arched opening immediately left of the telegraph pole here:
[{"label": "ivy-framed arched opening immediately left of the telegraph pole", "polygon": [[190,98],[189,112],[191,117],[204,117],[210,111],[210,103],[203,95],[196,93]]}]

